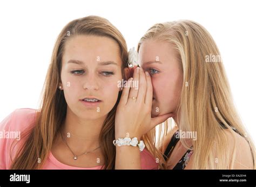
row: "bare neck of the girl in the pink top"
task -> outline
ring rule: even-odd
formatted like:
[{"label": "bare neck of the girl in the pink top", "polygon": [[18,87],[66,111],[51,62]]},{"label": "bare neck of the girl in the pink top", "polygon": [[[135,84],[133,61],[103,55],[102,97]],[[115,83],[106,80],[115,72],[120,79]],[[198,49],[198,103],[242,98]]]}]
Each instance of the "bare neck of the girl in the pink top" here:
[{"label": "bare neck of the girl in the pink top", "polygon": [[73,152],[89,151],[99,147],[99,134],[105,117],[81,119],[67,109],[66,119],[60,131]]}]

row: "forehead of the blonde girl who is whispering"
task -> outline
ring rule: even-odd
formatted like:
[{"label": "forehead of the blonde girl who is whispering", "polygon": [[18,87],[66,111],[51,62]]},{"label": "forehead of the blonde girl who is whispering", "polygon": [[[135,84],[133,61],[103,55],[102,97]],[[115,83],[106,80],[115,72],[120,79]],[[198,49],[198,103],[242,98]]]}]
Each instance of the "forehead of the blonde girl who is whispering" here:
[{"label": "forehead of the blonde girl who is whispering", "polygon": [[173,44],[158,40],[145,40],[139,48],[139,65],[150,61],[166,62],[176,59],[177,52]]}]

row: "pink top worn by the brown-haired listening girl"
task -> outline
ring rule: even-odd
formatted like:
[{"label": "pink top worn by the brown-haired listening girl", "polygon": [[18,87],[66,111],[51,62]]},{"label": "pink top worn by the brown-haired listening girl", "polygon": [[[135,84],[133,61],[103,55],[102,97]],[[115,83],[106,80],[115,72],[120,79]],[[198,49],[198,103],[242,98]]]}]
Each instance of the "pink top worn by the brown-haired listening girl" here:
[{"label": "pink top worn by the brown-haired listening girl", "polygon": [[[9,169],[11,165],[10,147],[11,143],[19,140],[19,132],[25,128],[35,125],[35,109],[17,109],[0,123],[0,169]],[[20,134],[21,134],[20,133]],[[19,143],[18,143],[19,145]],[[18,146],[14,148],[12,159],[17,153]],[[140,153],[142,169],[157,169],[158,164],[148,150]],[[50,152],[42,169],[100,169],[101,166],[92,168],[80,168],[59,162]]]}]

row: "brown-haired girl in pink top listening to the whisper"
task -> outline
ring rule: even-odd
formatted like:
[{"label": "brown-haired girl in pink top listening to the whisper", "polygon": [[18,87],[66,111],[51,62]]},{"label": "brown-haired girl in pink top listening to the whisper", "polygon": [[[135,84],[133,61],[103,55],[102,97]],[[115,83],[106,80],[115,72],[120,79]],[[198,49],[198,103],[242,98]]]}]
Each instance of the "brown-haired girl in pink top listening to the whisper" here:
[{"label": "brown-haired girl in pink top listening to the whisper", "polygon": [[[39,109],[15,110],[0,124],[3,132],[21,132],[19,141],[0,139],[0,169],[114,169],[117,83],[129,74],[127,60],[125,39],[108,20],[68,23],[55,43]],[[143,169],[157,168],[150,152],[141,153]]]}]

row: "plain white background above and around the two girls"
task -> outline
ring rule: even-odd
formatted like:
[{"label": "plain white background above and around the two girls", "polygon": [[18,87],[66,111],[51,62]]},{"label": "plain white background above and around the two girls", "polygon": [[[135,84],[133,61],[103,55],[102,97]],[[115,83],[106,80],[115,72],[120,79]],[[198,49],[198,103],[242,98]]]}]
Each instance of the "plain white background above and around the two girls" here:
[{"label": "plain white background above and around the two girls", "polygon": [[0,121],[15,109],[38,107],[53,45],[69,21],[109,19],[131,48],[155,23],[190,19],[217,42],[238,112],[255,142],[255,8],[253,1],[1,1]]}]

